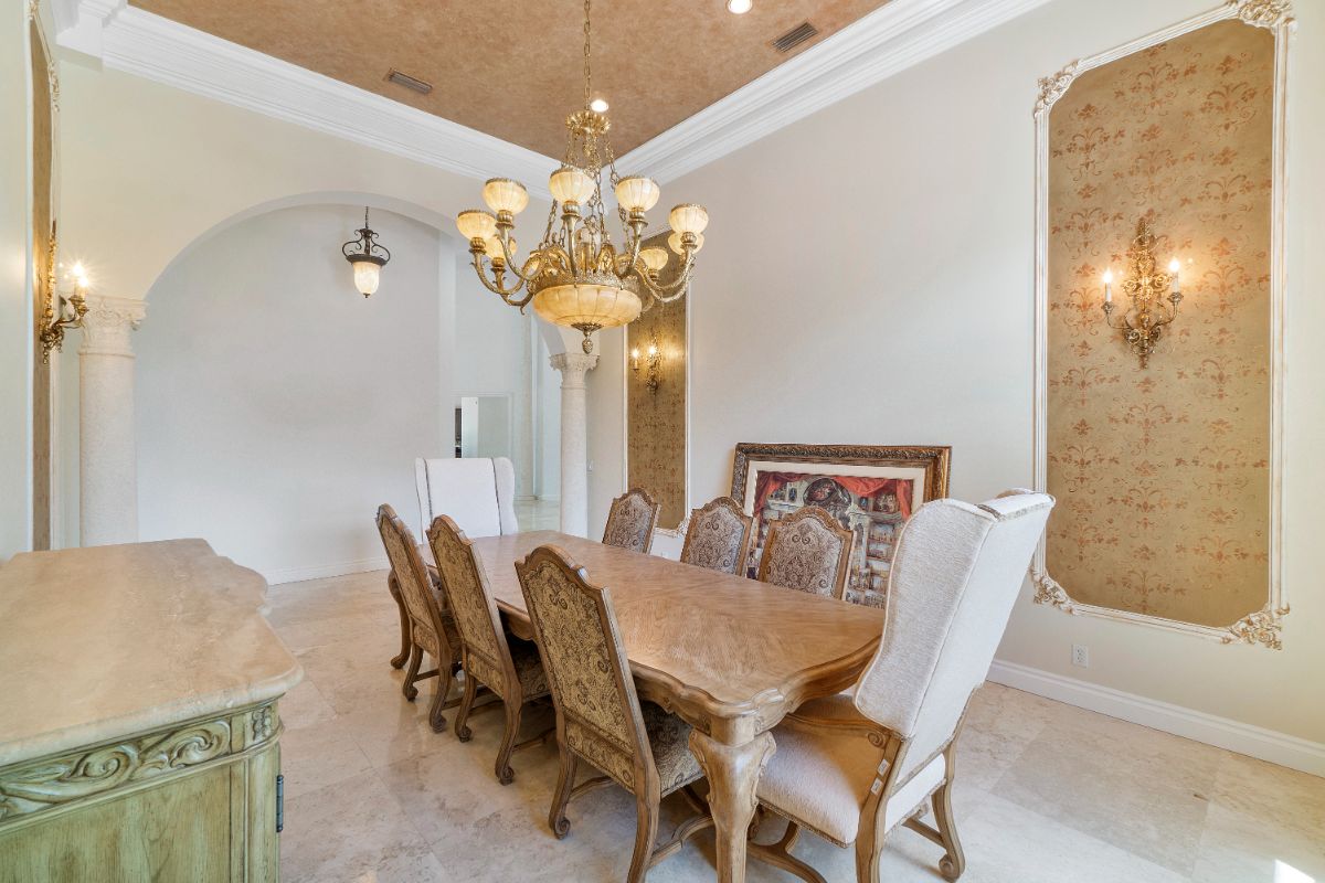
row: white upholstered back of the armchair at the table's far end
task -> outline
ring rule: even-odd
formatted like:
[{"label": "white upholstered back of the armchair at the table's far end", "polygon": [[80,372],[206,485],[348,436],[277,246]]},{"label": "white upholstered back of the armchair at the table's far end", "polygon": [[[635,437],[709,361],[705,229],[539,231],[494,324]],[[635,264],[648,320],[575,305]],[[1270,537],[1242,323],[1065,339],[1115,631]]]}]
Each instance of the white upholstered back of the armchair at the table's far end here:
[{"label": "white upholstered back of the armchair at the table's far end", "polygon": [[505,457],[452,457],[415,461],[421,530],[449,515],[466,536],[519,532],[515,522],[515,467]]}]

